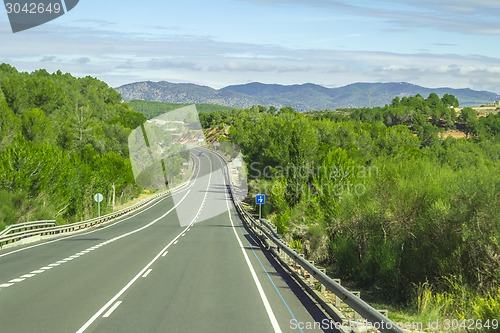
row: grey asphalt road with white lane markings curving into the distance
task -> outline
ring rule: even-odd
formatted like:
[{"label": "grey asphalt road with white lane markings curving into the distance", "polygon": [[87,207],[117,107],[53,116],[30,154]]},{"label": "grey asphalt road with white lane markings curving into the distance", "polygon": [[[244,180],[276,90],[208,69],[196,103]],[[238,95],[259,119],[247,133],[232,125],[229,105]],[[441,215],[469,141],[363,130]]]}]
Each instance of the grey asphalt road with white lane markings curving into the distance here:
[{"label": "grey asphalt road with white lane markings curving into the distance", "polygon": [[0,333],[322,331],[322,312],[239,220],[220,158],[195,159],[168,198],[0,251]]}]

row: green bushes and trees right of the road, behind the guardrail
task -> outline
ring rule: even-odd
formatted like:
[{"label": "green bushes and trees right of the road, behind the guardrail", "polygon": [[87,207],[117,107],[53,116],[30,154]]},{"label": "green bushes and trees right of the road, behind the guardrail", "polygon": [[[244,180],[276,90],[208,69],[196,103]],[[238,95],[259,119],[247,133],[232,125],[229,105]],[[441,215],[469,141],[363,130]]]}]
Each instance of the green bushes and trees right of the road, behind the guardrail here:
[{"label": "green bushes and trees right of the road, behind the guardrail", "polygon": [[[241,146],[251,194],[268,196],[264,216],[308,259],[414,320],[493,320],[500,115],[457,106],[431,94],[381,108],[253,107],[201,119]],[[466,138],[439,135],[449,129]]]}]

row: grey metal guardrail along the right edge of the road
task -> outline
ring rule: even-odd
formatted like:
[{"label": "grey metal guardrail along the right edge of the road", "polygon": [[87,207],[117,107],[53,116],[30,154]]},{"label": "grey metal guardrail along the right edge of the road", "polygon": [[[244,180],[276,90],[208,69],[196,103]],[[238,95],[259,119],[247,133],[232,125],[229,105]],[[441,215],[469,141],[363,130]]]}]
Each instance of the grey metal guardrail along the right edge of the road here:
[{"label": "grey metal guardrail along the right edge of the road", "polygon": [[[218,153],[217,154],[224,162],[226,162],[225,157]],[[227,162],[226,162],[227,165]],[[229,179],[230,183],[230,179]],[[375,328],[383,333],[404,333],[397,324],[392,322],[387,316],[383,315],[378,310],[374,309],[368,303],[363,301],[355,293],[348,291],[346,288],[342,287],[335,280],[330,278],[320,269],[315,267],[293,249],[288,247],[282,240],[279,234],[276,232],[275,228],[266,220],[261,219],[256,220],[250,213],[248,213],[240,203],[235,201],[235,193],[233,193],[233,187],[231,189],[231,200],[236,207],[236,210],[241,217],[241,219],[259,235],[261,241],[266,244],[268,250],[273,253],[275,257],[281,257],[279,251],[285,253],[289,258],[300,265],[305,271],[309,272],[311,277],[321,283],[322,288],[325,288],[335,294],[342,302],[347,304],[352,310],[354,310],[359,316],[367,320],[367,326],[370,328]],[[362,323],[358,323],[362,324]],[[359,325],[361,326],[361,325]]]}]

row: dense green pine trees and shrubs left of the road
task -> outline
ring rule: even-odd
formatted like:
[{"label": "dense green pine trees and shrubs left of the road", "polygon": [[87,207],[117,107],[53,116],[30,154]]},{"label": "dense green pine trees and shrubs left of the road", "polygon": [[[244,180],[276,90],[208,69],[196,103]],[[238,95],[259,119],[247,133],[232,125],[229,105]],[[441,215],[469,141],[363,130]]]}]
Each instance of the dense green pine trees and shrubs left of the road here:
[{"label": "dense green pine trees and shrubs left of the road", "polygon": [[[0,65],[0,221],[96,215],[92,195],[134,190],[127,137],[145,118],[105,83]],[[131,190],[132,188],[132,190]]]}]

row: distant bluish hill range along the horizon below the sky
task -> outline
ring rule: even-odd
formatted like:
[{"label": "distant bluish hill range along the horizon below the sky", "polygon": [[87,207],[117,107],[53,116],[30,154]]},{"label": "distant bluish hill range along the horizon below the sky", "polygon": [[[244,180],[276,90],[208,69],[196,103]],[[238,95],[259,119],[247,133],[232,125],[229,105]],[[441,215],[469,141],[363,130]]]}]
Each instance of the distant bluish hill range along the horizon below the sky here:
[{"label": "distant bluish hill range along the horizon below the sky", "polygon": [[146,81],[126,84],[116,90],[125,101],[218,104],[241,108],[252,105],[273,105],[278,108],[291,106],[298,111],[384,106],[391,103],[395,96],[420,94],[426,98],[431,92],[439,96],[452,94],[458,98],[461,106],[500,100],[498,94],[487,91],[425,88],[406,82],[353,83],[339,88],[326,88],[312,83],[285,86],[254,82],[217,90],[191,83]]}]

